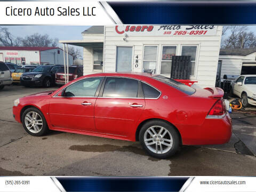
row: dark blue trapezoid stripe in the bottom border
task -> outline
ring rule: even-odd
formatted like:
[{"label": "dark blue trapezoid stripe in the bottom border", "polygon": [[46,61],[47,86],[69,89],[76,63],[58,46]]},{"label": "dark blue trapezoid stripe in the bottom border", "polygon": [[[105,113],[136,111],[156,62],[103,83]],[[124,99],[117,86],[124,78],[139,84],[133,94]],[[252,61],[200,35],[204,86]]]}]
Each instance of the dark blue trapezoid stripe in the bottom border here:
[{"label": "dark blue trapezoid stripe in the bottom border", "polygon": [[179,191],[188,177],[57,177],[66,191]]}]

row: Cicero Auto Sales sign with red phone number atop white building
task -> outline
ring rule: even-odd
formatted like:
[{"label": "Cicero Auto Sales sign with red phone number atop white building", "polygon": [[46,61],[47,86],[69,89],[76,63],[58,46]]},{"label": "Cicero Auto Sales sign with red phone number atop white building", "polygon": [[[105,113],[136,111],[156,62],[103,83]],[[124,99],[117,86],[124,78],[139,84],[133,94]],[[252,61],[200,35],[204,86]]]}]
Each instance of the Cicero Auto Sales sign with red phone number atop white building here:
[{"label": "Cicero Auto Sales sign with red phone number atop white building", "polygon": [[128,36],[214,36],[217,26],[120,25],[116,34]]}]

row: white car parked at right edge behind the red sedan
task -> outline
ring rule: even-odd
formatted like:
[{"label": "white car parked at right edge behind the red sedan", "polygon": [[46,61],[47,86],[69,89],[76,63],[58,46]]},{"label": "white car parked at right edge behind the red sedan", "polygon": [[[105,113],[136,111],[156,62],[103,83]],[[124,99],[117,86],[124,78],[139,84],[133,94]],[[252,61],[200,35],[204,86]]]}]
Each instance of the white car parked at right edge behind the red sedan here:
[{"label": "white car parked at right edge behind the red sedan", "polygon": [[231,82],[230,92],[241,98],[242,105],[256,105],[256,75],[241,75]]}]

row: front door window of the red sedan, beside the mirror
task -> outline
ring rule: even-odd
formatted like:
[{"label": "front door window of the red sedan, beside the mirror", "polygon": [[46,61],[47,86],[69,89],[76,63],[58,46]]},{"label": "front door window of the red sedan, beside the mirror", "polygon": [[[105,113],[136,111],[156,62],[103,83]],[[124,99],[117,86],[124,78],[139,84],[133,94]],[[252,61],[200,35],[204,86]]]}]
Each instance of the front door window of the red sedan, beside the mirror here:
[{"label": "front door window of the red sedan, beside the mirror", "polygon": [[65,90],[66,97],[94,97],[102,77],[86,78],[69,85]]}]

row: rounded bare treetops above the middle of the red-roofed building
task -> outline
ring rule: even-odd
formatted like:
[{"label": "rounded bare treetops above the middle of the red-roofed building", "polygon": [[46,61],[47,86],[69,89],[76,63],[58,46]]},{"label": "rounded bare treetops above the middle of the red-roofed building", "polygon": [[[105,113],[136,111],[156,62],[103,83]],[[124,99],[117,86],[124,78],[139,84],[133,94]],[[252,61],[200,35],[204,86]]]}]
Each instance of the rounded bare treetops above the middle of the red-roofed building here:
[{"label": "rounded bare treetops above the middle of the red-roofed building", "polygon": [[33,35],[26,36],[21,40],[22,46],[30,47],[57,47],[59,45],[59,40],[57,38],[52,39],[49,35],[41,35],[35,33]]}]

